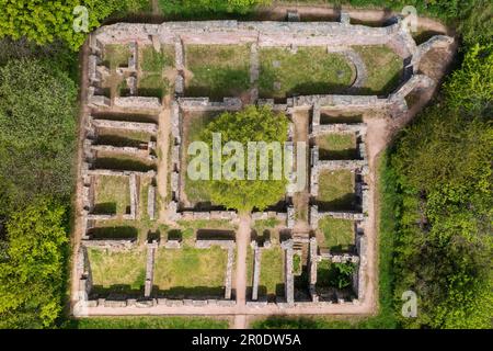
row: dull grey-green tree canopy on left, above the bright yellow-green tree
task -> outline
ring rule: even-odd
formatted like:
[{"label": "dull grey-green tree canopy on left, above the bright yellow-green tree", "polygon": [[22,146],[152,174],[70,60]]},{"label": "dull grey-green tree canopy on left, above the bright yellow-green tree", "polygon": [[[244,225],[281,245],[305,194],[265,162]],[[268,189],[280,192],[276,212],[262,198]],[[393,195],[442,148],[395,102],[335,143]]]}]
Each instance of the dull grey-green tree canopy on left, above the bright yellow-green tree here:
[{"label": "dull grey-green tree canopy on left, above the bright yellow-green tree", "polygon": [[0,68],[0,213],[39,194],[70,196],[76,100],[73,81],[47,61]]}]

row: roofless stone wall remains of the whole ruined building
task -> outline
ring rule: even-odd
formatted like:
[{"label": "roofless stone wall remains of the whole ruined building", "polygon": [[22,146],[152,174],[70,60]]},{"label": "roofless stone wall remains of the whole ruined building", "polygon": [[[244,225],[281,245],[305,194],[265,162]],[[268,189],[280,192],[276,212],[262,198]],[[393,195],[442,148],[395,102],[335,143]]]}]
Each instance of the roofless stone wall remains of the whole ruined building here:
[{"label": "roofless stone wall remains of the whole ruined building", "polygon": [[[283,112],[291,117],[297,111],[310,111],[311,123],[309,125],[309,138],[320,135],[335,133],[352,133],[357,136],[358,157],[354,160],[320,160],[318,146],[310,149],[310,170],[309,170],[309,195],[317,199],[319,193],[319,173],[322,170],[347,169],[357,174],[358,182],[355,186],[358,206],[353,212],[320,212],[317,204],[310,200],[309,218],[310,233],[296,231],[298,219],[296,208],[293,206],[293,193],[286,194],[285,212],[263,212],[252,213],[253,220],[277,218],[280,226],[290,238],[284,240],[280,245],[284,250],[284,276],[285,294],[275,303],[259,299],[259,281],[261,272],[262,250],[268,248],[271,241],[264,241],[262,245],[252,241],[253,248],[253,282],[251,299],[246,302],[246,307],[276,307],[296,308],[298,306],[311,306],[321,308],[329,306],[334,301],[324,299],[317,294],[317,267],[322,260],[332,262],[354,262],[357,270],[353,276],[353,290],[356,298],[344,301],[337,298],[339,304],[358,305],[365,299],[366,292],[366,270],[367,270],[367,238],[365,236],[365,225],[368,217],[369,188],[365,182],[368,173],[368,159],[366,152],[366,125],[357,124],[321,124],[321,111],[376,111],[393,118],[405,114],[408,104],[405,98],[413,91],[426,90],[436,82],[429,77],[420,73],[420,63],[423,56],[433,48],[449,46],[452,38],[445,35],[435,35],[427,42],[416,45],[400,19],[395,23],[383,27],[369,27],[365,25],[353,25],[349,23],[349,16],[346,13],[341,14],[340,22],[299,22],[299,15],[296,11],[289,11],[288,22],[238,22],[238,21],[194,21],[194,22],[167,22],[162,24],[136,24],[117,23],[103,26],[90,35],[90,50],[88,59],[89,67],[89,91],[88,105],[94,111],[138,111],[158,115],[163,109],[170,111],[171,123],[171,159],[169,163],[171,174],[171,201],[165,204],[165,217],[157,211],[157,172],[154,170],[135,171],[135,170],[114,170],[95,167],[99,154],[118,154],[127,157],[144,159],[148,162],[156,161],[156,143],[150,141],[144,148],[118,147],[115,145],[99,145],[98,133],[100,129],[134,131],[147,133],[154,138],[158,136],[158,123],[142,123],[140,121],[115,121],[101,118],[98,116],[88,116],[84,131],[83,144],[83,166],[81,169],[82,192],[82,245],[78,252],[78,278],[79,278],[79,299],[87,307],[177,307],[177,306],[217,306],[230,308],[236,305],[231,295],[231,276],[234,262],[233,240],[197,240],[197,248],[207,248],[213,245],[219,245],[228,251],[228,264],[225,281],[225,296],[222,299],[169,299],[152,296],[152,281],[154,256],[157,248],[163,246],[169,249],[181,249],[180,240],[170,239],[165,242],[151,241],[147,244],[147,264],[145,293],[141,298],[125,298],[112,301],[106,298],[90,299],[92,288],[92,274],[90,262],[87,254],[88,247],[102,248],[106,250],[127,250],[136,246],[133,239],[94,239],[90,235],[90,229],[99,220],[108,220],[114,218],[114,214],[94,214],[94,184],[99,176],[126,177],[129,182],[130,191],[130,211],[125,214],[125,218],[137,220],[139,215],[147,212],[151,220],[163,219],[172,223],[182,219],[227,219],[238,220],[238,214],[232,211],[195,211],[183,206],[181,192],[183,191],[182,178],[184,177],[181,157],[183,155],[183,131],[182,121],[186,112],[211,112],[211,111],[239,111],[243,107],[243,102],[237,98],[223,98],[220,102],[210,101],[208,98],[185,98],[185,61],[184,46],[187,44],[202,45],[236,45],[250,44],[250,80],[254,83],[251,90],[251,100],[259,105],[271,105],[274,111]],[[129,58],[125,67],[118,67],[117,73],[126,77],[126,84],[129,88],[128,97],[111,98],[104,93],[102,82],[110,75],[107,67],[103,65],[103,52],[105,45],[124,44],[128,46]],[[138,48],[142,45],[152,45],[159,49],[162,45],[172,45],[174,47],[174,68],[177,71],[174,81],[174,95],[167,106],[163,101],[157,98],[138,97],[137,75],[138,75]],[[403,60],[403,79],[401,86],[387,97],[380,95],[357,95],[352,94],[362,87],[367,79],[367,69],[358,54],[351,47],[355,45],[387,45],[390,46]],[[260,76],[259,49],[262,47],[287,47],[296,53],[299,46],[323,46],[328,53],[339,53],[351,63],[356,72],[356,79],[348,89],[349,94],[319,94],[319,95],[299,95],[287,98],[284,102],[272,99],[259,99],[256,82]],[[288,139],[293,140],[293,124],[289,126]],[[139,206],[139,184],[142,179],[150,179],[151,185],[148,190],[147,208]],[[332,254],[318,248],[317,238],[312,235],[318,229],[319,220],[323,217],[334,217],[351,219],[355,223],[355,251],[342,254]],[[307,250],[309,284],[309,301],[298,301],[294,286],[294,262],[293,258],[300,248]],[[163,309],[165,310],[165,309]]]}]

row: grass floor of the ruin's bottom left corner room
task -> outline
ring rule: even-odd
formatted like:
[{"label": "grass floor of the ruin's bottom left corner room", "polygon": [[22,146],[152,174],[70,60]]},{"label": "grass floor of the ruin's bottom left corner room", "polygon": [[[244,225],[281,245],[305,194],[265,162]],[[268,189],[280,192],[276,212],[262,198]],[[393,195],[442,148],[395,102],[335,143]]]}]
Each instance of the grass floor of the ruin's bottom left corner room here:
[{"label": "grass floor of the ruin's bottom left corner room", "polygon": [[137,294],[146,280],[146,251],[88,249],[94,293]]}]

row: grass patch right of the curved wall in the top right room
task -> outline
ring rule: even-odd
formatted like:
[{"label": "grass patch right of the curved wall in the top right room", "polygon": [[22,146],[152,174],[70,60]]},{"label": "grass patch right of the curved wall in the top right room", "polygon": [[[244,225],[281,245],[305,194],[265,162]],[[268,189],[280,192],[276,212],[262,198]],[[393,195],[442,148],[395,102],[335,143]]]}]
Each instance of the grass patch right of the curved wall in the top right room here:
[{"label": "grass patch right of the curved wall in the top right room", "polygon": [[400,58],[391,48],[385,45],[353,47],[366,65],[368,79],[360,93],[388,94],[399,84],[403,68]]}]

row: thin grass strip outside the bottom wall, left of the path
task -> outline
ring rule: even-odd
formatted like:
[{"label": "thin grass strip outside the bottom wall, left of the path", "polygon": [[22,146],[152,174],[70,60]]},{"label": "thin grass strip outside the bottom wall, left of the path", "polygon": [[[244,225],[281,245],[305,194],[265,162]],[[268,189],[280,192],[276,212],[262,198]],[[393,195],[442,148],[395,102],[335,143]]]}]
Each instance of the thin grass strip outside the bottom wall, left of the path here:
[{"label": "thin grass strip outside the bottom wall, left of the path", "polygon": [[228,321],[203,317],[92,317],[72,319],[69,329],[227,329]]}]

